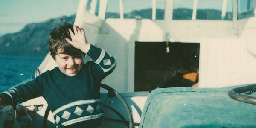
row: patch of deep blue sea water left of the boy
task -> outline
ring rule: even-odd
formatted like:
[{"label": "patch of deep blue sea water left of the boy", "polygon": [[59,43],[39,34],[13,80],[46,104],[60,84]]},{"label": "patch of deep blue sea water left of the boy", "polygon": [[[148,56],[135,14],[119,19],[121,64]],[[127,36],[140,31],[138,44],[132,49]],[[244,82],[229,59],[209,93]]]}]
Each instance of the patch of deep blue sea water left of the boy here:
[{"label": "patch of deep blue sea water left of the boy", "polygon": [[43,58],[0,55],[0,92],[34,78],[35,67]]}]

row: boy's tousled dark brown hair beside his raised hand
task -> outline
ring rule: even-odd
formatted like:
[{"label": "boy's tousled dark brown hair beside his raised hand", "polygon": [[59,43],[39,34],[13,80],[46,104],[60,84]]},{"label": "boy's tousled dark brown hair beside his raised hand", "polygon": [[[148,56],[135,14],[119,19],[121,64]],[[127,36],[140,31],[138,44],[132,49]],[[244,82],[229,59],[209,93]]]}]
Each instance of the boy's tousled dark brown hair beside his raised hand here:
[{"label": "boy's tousled dark brown hair beside his raised hand", "polygon": [[73,25],[69,23],[64,23],[64,25],[57,26],[52,29],[52,32],[49,35],[49,50],[53,59],[55,59],[55,55],[58,54],[58,49],[62,49],[60,51],[61,54],[67,54],[71,56],[81,54],[80,49],[76,49],[65,40],[65,38],[71,40],[70,32],[68,29],[71,29],[72,32],[74,32]]}]

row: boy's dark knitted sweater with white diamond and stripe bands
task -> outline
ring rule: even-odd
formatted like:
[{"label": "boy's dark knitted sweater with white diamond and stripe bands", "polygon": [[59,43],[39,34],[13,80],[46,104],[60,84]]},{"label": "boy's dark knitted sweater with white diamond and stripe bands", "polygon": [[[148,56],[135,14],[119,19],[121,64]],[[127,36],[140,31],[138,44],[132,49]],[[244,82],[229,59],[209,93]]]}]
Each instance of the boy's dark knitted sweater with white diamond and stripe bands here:
[{"label": "boy's dark knitted sweater with white diamond and stripe bands", "polygon": [[87,55],[93,61],[84,64],[76,76],[67,76],[56,67],[33,81],[1,93],[2,105],[15,105],[43,96],[54,115],[57,128],[99,119],[104,116],[100,103],[100,83],[114,70],[116,60],[93,45]]}]

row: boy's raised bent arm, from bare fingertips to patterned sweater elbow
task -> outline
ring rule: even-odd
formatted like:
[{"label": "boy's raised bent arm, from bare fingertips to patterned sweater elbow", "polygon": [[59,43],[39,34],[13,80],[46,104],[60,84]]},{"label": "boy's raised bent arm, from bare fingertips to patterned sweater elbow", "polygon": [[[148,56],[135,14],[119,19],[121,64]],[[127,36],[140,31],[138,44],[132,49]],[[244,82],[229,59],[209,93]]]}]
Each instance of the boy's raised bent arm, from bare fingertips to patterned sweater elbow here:
[{"label": "boy's raised bent arm, from bare fingertips to patterned sweater elbow", "polygon": [[96,65],[91,67],[92,73],[95,79],[102,80],[114,70],[116,67],[116,59],[105,52],[105,50],[87,43],[83,28],[73,26],[73,29],[74,33],[69,29],[72,41],[67,38],[66,41],[93,59]]}]

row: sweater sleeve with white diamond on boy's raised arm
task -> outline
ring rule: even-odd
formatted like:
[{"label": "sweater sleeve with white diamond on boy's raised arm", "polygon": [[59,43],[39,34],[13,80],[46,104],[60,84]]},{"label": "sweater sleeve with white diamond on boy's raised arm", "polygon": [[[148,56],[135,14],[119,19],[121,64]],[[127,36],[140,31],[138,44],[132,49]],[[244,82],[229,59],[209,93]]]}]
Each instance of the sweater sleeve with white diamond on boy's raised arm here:
[{"label": "sweater sleeve with white diamond on boy's raised arm", "polygon": [[94,78],[99,81],[112,73],[116,67],[116,59],[113,57],[113,55],[105,52],[104,49],[91,45],[87,55],[89,55],[95,63],[91,69]]}]

